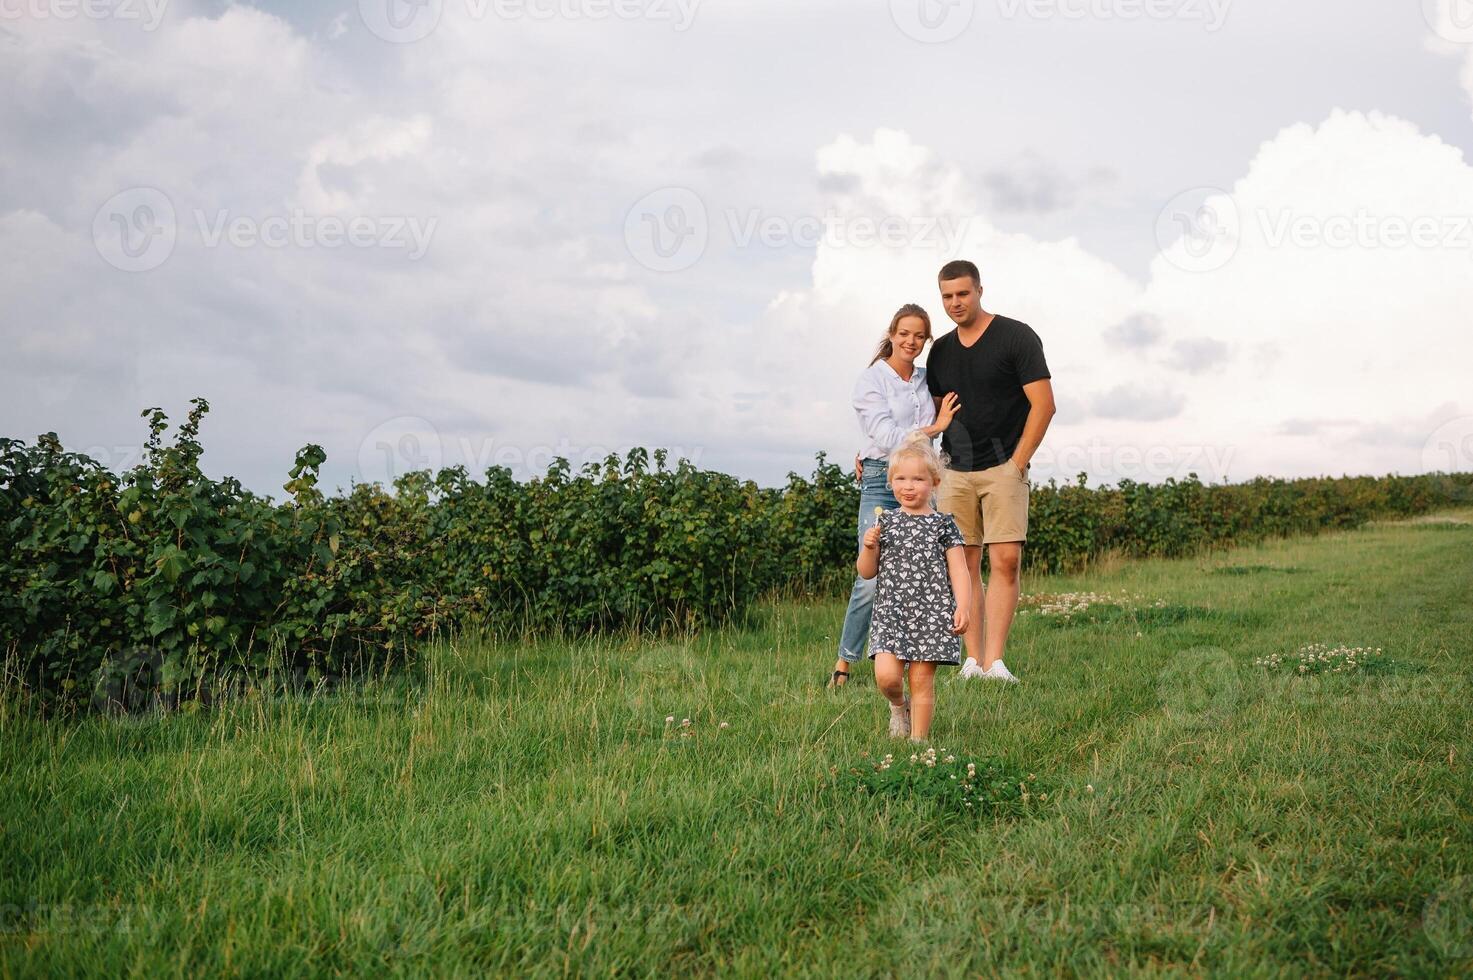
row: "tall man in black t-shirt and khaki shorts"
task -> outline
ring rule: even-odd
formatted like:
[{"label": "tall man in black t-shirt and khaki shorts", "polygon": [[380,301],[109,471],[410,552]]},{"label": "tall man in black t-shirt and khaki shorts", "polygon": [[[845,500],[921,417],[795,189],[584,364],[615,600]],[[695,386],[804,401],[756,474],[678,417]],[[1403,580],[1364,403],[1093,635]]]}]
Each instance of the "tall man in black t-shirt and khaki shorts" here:
[{"label": "tall man in black t-shirt and khaki shorts", "polygon": [[[1016,684],[1003,647],[1018,610],[1018,567],[1028,536],[1028,463],[1053,419],[1053,386],[1038,335],[982,309],[977,265],[947,262],[937,280],[956,330],[932,345],[927,386],[937,405],[950,392],[960,401],[941,436],[950,461],[937,510],[956,519],[972,581],[962,676]],[[991,567],[985,597],[984,547]]]}]

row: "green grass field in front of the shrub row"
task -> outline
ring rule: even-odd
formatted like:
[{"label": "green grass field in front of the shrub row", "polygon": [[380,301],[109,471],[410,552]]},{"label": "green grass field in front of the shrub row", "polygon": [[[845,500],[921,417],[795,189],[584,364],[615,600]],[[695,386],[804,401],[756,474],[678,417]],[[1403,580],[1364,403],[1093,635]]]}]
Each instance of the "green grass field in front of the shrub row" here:
[{"label": "green grass field in front of the shrub row", "polygon": [[[1449,517],[1027,579],[1140,598],[1024,613],[1018,687],[943,673],[932,744],[1036,774],[1025,815],[846,785],[910,749],[871,682],[822,688],[838,598],[688,641],[454,644],[315,700],[62,722],[12,696],[0,971],[1467,974]],[[1309,643],[1391,665],[1254,665]]]}]

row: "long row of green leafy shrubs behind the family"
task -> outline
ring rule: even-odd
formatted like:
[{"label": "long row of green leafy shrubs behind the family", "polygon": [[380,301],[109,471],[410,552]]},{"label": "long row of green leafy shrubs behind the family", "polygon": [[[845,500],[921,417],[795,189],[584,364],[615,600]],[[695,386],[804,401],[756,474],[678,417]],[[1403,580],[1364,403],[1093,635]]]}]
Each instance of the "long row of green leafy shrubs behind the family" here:
[{"label": "long row of green leafy shrubs behind the family", "polygon": [[[557,460],[527,483],[449,467],[324,497],[326,454],[309,445],[274,503],[200,472],[208,408],[193,401],[172,445],[164,413],[146,410],[143,460],[121,475],[55,433],[0,439],[0,643],[27,687],[177,696],[268,668],[340,676],[465,628],[694,629],[851,575],[859,492],[822,454],[784,488],[635,449],[579,473]],[[1467,476],[1081,477],[1034,491],[1027,556],[1055,570],[1111,550],[1186,554],[1469,497]]]}]

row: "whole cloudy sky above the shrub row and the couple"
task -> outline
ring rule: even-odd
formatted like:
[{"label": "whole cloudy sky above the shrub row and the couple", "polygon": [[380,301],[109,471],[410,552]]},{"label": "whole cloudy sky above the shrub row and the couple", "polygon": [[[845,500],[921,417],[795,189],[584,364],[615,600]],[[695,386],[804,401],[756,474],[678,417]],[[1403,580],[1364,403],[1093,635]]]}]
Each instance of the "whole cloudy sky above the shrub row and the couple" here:
[{"label": "whole cloudy sky above the shrub row and the couple", "polygon": [[1473,469],[1473,0],[0,0],[0,433],[280,497],[847,461],[935,270],[1036,470]]}]

